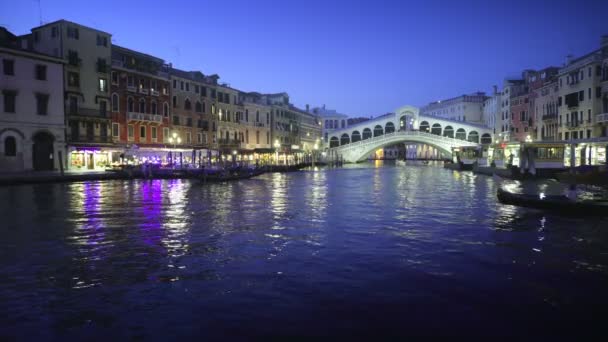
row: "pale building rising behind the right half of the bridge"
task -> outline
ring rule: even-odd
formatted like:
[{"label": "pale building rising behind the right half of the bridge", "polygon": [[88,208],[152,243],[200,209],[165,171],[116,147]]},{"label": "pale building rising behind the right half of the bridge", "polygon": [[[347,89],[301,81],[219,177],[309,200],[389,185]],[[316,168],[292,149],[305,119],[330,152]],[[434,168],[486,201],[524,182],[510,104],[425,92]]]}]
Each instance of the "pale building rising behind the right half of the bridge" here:
[{"label": "pale building rising behind the right half of the bridge", "polygon": [[483,104],[487,96],[484,92],[461,95],[446,100],[431,102],[420,108],[420,114],[438,116],[444,119],[484,124]]}]

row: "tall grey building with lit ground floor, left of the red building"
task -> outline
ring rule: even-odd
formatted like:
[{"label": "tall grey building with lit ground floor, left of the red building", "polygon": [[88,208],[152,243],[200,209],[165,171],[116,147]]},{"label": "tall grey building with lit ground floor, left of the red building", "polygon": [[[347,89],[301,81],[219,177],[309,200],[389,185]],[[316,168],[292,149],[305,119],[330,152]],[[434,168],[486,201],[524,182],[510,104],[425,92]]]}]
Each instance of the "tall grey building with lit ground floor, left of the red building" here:
[{"label": "tall grey building with lit ground floor, left of the red building", "polygon": [[112,162],[110,60],[112,35],[67,20],[31,29],[31,48],[62,59],[68,166],[103,169]]}]

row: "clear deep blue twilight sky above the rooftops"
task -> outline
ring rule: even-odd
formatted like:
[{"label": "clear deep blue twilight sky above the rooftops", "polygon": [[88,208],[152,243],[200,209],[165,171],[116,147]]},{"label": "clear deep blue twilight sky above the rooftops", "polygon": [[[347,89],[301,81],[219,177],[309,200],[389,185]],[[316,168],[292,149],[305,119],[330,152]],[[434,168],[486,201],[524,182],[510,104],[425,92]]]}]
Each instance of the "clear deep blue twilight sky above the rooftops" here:
[{"label": "clear deep blue twilight sky above the rooftops", "polygon": [[[68,1],[40,0],[43,22],[67,19],[175,67],[217,73],[244,91],[289,93],[370,116],[490,92],[526,68],[560,66],[599,47],[608,1]],[[40,23],[37,0],[0,0],[0,26]],[[10,13],[10,15],[7,15]]]}]

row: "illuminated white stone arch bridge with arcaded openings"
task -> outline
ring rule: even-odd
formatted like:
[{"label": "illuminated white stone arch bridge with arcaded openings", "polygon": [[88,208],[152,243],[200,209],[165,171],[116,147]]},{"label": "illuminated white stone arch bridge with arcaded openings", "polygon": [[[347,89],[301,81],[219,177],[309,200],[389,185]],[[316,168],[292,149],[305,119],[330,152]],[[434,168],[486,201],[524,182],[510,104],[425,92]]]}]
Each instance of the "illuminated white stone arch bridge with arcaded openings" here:
[{"label": "illuminated white stone arch bridge with arcaded openings", "polygon": [[405,106],[331,133],[329,155],[341,155],[345,162],[365,160],[372,152],[397,143],[434,146],[450,154],[452,147],[479,146],[492,142],[492,131],[483,125],[419,115],[418,108]]}]

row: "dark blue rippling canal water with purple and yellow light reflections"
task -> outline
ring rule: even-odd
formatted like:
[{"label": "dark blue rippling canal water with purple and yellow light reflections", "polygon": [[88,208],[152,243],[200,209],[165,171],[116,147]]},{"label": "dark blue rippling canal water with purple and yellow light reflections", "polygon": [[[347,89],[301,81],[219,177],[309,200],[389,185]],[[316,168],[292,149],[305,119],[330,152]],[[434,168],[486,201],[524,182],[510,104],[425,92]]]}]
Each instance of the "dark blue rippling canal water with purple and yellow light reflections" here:
[{"label": "dark blue rippling canal water with purple and yellow light reflections", "polygon": [[0,188],[0,338],[600,331],[608,220],[504,206],[497,186],[361,164]]}]

